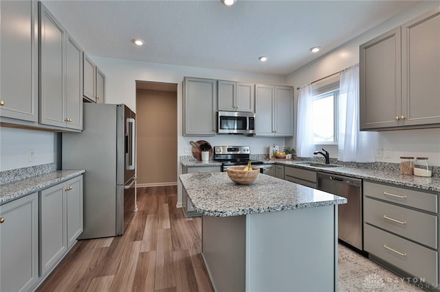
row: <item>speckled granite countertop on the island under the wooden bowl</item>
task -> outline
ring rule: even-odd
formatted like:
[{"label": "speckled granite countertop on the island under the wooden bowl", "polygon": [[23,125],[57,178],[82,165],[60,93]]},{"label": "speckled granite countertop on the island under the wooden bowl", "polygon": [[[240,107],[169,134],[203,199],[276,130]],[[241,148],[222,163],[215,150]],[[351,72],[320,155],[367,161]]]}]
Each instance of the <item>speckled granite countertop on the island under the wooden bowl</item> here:
[{"label": "speckled granite countertop on the island under the wooden bowl", "polygon": [[247,185],[232,182],[228,173],[190,173],[181,174],[179,178],[195,210],[208,216],[228,217],[347,203],[344,197],[262,173]]}]

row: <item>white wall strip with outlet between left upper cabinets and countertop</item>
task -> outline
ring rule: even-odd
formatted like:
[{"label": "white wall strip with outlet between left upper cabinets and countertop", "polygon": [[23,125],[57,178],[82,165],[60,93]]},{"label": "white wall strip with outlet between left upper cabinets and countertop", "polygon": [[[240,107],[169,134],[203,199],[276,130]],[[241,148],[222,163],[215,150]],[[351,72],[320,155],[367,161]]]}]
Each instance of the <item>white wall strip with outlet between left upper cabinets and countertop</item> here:
[{"label": "white wall strip with outlet between left upper cabinets and countertop", "polygon": [[[0,171],[56,162],[53,132],[0,128]],[[34,151],[29,161],[28,151]]]}]

